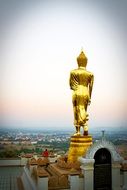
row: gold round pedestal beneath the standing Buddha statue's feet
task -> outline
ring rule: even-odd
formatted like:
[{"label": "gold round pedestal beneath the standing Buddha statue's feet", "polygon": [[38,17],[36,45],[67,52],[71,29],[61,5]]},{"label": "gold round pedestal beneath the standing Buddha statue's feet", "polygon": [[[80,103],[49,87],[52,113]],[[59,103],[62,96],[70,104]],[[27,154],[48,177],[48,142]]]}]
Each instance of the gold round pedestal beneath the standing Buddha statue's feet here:
[{"label": "gold round pedestal beneath the standing Buddha statue's feet", "polygon": [[77,162],[78,157],[85,156],[87,149],[92,145],[92,136],[71,136],[68,153],[69,162]]}]

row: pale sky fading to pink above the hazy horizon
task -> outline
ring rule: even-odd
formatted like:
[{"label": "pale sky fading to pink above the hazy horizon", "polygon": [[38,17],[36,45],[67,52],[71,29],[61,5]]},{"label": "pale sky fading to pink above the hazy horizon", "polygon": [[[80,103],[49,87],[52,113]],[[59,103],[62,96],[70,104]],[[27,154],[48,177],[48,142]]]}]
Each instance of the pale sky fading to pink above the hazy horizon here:
[{"label": "pale sky fading to pink above the hazy horizon", "polygon": [[0,128],[73,129],[70,70],[95,81],[89,126],[127,126],[127,0],[0,1]]}]

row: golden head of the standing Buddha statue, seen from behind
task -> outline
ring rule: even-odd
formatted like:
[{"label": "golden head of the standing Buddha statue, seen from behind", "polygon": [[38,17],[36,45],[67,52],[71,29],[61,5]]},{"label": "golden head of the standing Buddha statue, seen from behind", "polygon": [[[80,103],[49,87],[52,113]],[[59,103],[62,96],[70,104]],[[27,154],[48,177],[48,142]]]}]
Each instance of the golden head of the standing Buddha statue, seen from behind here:
[{"label": "golden head of the standing Buddha statue, seen from behind", "polygon": [[85,56],[83,51],[81,51],[81,53],[77,57],[77,63],[78,63],[79,67],[86,67],[86,65],[87,65],[87,57]]}]

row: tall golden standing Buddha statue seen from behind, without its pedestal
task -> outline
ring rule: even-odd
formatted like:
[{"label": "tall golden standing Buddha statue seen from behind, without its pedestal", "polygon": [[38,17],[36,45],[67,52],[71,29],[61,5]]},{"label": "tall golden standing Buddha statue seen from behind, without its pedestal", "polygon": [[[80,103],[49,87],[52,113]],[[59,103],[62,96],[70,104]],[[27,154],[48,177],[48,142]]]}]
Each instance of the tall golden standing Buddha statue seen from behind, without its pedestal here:
[{"label": "tall golden standing Buddha statue seen from behind, without its pedestal", "polygon": [[70,88],[73,90],[72,102],[74,111],[75,135],[80,135],[83,127],[84,135],[88,135],[88,113],[87,107],[91,102],[91,94],[94,75],[86,70],[87,57],[81,51],[77,57],[78,68],[70,72]]}]

